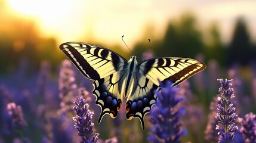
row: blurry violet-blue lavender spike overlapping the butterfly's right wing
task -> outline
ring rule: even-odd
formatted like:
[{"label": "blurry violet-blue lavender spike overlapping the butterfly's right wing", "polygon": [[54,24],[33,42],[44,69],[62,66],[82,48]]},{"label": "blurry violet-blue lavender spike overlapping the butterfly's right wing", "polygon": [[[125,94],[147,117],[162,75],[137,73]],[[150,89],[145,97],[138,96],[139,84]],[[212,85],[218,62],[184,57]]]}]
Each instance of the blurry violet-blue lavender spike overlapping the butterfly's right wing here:
[{"label": "blurry violet-blue lavender spike overlapping the butterfly's right wing", "polygon": [[177,104],[184,100],[184,97],[176,96],[178,89],[171,86],[171,82],[167,82],[161,89],[156,92],[158,100],[155,108],[152,108],[150,115],[153,120],[151,128],[152,134],[147,140],[152,142],[180,142],[180,137],[186,134],[186,130],[182,128],[183,123],[181,117],[184,116],[186,107],[178,107]]}]

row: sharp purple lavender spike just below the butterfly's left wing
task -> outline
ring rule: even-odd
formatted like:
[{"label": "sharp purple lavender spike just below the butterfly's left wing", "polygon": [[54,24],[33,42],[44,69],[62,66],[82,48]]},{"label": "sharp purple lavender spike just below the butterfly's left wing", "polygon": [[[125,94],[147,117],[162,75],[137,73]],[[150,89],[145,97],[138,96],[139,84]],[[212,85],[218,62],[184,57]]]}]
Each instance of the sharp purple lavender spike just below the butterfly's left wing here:
[{"label": "sharp purple lavender spike just below the butterfly's left wing", "polygon": [[83,97],[76,97],[76,102],[73,110],[76,111],[76,117],[73,117],[75,121],[75,128],[78,130],[78,135],[82,138],[82,143],[96,143],[99,133],[93,135],[92,115],[94,114],[89,110],[89,105],[85,103]]}]

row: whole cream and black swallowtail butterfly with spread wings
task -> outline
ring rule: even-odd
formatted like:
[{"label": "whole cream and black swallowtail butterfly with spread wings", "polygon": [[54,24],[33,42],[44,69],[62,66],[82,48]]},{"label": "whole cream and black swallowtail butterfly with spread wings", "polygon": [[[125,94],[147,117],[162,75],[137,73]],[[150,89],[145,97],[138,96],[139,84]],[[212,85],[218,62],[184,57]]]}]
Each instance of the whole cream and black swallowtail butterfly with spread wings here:
[{"label": "whole cream and black swallowtail butterfly with spread wings", "polygon": [[178,85],[190,76],[202,71],[206,65],[190,58],[151,58],[140,61],[124,57],[101,46],[82,42],[66,42],[61,51],[88,79],[94,80],[95,104],[100,106],[98,123],[105,114],[118,115],[125,97],[126,118],[140,119],[144,129],[144,117],[156,102],[156,91],[161,91],[159,81],[168,80]]}]

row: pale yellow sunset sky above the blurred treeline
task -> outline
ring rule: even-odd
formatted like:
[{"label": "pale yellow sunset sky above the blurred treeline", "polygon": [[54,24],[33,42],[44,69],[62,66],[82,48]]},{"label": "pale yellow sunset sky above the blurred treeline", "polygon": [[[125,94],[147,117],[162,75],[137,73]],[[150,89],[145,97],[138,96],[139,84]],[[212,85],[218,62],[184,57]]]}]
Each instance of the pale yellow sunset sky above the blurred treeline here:
[{"label": "pale yellow sunset sky above the blurred treeline", "polygon": [[[217,22],[224,42],[229,41],[236,19],[242,16],[248,22],[252,38],[256,39],[256,1],[252,0],[1,1],[7,4],[7,14],[35,20],[43,35],[54,36],[60,43],[122,44],[121,36],[125,35],[128,45],[133,46],[145,36],[161,37],[167,22],[178,20],[187,11],[195,14],[202,29]],[[149,30],[147,35],[146,30]]]}]

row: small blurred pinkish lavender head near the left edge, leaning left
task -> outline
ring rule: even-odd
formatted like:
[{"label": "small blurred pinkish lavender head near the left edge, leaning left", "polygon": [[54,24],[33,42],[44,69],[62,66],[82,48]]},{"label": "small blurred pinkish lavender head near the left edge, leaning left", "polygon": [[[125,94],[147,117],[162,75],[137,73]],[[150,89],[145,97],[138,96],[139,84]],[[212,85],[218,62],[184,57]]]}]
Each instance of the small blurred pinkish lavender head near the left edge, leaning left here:
[{"label": "small blurred pinkish lavender head near the left edge, leaning left", "polygon": [[22,130],[27,126],[27,122],[23,117],[23,112],[20,105],[10,102],[7,104],[7,111],[11,117],[12,126],[14,129]]}]

